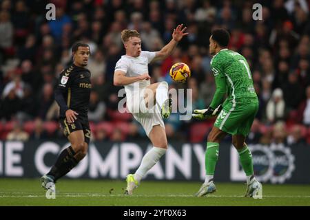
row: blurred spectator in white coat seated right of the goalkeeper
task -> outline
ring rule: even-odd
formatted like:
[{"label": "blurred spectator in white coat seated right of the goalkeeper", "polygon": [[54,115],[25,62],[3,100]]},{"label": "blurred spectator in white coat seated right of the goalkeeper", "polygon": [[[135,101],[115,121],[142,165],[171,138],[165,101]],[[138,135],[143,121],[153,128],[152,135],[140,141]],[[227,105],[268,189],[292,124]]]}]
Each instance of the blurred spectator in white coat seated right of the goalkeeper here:
[{"label": "blurred spectator in white coat seated right of the goalkeeper", "polygon": [[282,89],[277,88],[273,91],[272,97],[267,103],[267,121],[272,124],[284,120],[285,111],[285,100],[283,100]]}]

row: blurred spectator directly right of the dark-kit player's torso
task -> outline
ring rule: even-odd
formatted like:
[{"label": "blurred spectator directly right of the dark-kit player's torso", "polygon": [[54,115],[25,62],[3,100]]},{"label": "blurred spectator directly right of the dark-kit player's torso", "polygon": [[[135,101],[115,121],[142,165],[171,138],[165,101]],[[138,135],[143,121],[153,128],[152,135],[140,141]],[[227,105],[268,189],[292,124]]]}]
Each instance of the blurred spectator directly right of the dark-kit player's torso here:
[{"label": "blurred spectator directly right of the dark-kit player's torso", "polygon": [[96,91],[90,93],[90,105],[88,109],[88,120],[99,122],[103,120],[105,115],[105,103],[99,100],[99,95]]}]

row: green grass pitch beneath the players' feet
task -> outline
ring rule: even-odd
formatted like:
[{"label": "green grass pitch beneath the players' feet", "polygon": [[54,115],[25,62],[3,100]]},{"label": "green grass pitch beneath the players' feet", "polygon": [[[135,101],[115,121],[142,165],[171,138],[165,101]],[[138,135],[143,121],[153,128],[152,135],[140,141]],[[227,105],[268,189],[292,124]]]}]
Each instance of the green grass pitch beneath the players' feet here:
[{"label": "green grass pitch beneath the players' feet", "polygon": [[0,179],[0,206],[310,206],[309,185],[263,184],[263,198],[253,199],[242,197],[245,184],[218,183],[217,192],[196,198],[200,184],[143,181],[128,196],[125,181],[61,179],[56,199],[46,199],[39,179]]}]

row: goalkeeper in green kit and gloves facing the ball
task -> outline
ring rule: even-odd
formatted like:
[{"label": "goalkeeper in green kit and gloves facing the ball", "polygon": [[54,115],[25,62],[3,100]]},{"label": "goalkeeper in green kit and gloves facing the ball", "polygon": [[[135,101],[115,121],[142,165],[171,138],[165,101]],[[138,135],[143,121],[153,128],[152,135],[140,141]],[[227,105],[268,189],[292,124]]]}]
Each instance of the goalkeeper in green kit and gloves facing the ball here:
[{"label": "goalkeeper in green kit and gloves facing the ball", "polygon": [[[251,125],[258,111],[258,98],[254,90],[251,72],[246,59],[240,54],[227,49],[229,33],[224,29],[212,31],[209,52],[211,70],[214,73],[216,92],[207,109],[196,109],[193,118],[206,119],[218,115],[214,126],[207,137],[205,152],[205,182],[196,193],[202,197],[216,191],[214,170],[218,160],[220,141],[227,134],[232,135],[239,154],[239,161],[247,175],[247,191],[245,197],[262,198],[262,184],[254,177],[251,151],[245,143]],[[227,94],[226,100],[223,98]]]}]

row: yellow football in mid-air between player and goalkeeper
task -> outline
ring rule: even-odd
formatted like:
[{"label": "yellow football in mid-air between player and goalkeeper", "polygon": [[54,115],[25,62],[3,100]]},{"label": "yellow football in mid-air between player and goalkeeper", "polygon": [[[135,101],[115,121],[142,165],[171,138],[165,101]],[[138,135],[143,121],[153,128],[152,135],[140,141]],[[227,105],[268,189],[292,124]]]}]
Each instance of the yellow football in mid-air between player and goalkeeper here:
[{"label": "yellow football in mid-air between player and goalkeeper", "polygon": [[175,63],[172,65],[169,75],[176,83],[185,83],[191,76],[191,70],[185,63]]}]

